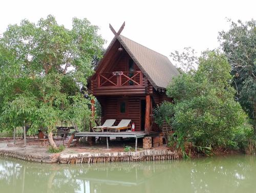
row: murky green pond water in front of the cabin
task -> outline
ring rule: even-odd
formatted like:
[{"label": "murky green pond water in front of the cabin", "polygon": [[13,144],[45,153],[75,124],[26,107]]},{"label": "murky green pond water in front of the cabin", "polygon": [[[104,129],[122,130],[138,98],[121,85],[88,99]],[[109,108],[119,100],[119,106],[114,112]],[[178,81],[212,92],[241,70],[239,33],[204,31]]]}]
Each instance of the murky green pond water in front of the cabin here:
[{"label": "murky green pond water in front of the cabin", "polygon": [[256,192],[256,157],[40,164],[0,157],[0,192]]}]

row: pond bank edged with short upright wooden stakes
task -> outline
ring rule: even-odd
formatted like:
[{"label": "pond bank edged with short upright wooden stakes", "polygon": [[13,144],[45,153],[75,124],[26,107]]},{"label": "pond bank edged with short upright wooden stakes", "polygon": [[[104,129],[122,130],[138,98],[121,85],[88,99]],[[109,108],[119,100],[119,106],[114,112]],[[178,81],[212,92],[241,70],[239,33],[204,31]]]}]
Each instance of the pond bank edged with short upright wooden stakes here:
[{"label": "pond bank edged with short upright wooden stakes", "polygon": [[0,148],[1,157],[17,158],[38,163],[104,163],[104,162],[141,162],[154,160],[180,159],[178,152],[167,149],[145,149],[138,152],[105,152],[105,153],[47,153],[48,148],[36,145],[11,146]]}]

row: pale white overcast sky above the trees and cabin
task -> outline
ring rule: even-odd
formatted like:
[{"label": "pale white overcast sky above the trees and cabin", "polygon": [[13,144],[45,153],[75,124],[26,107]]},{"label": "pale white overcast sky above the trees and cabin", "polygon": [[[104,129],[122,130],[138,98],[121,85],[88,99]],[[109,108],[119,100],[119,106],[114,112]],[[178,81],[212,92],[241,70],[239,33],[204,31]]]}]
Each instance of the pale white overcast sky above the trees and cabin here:
[{"label": "pale white overcast sky above the trees and cabin", "polygon": [[100,27],[107,40],[113,38],[109,23],[117,31],[125,21],[122,35],[166,56],[174,50],[192,47],[199,53],[219,46],[218,32],[227,30],[226,18],[256,19],[256,1],[1,1],[0,34],[9,24],[27,18],[37,22],[48,14],[58,24],[71,28],[72,18],[88,18]]}]

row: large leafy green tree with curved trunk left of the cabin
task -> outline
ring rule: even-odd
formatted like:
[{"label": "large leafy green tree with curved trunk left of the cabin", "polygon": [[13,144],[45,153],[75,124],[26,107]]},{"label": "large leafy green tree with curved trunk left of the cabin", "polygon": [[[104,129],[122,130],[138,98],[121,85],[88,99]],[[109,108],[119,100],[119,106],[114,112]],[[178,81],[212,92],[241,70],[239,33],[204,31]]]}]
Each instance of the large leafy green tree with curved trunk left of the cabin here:
[{"label": "large leafy green tree with curved trunk left of the cabin", "polygon": [[78,121],[79,108],[82,117],[90,117],[90,100],[80,88],[93,74],[93,59],[101,57],[104,40],[97,33],[87,19],[73,18],[68,30],[52,15],[37,24],[22,20],[8,26],[0,39],[2,128],[47,127],[56,149],[52,132],[59,120]]}]

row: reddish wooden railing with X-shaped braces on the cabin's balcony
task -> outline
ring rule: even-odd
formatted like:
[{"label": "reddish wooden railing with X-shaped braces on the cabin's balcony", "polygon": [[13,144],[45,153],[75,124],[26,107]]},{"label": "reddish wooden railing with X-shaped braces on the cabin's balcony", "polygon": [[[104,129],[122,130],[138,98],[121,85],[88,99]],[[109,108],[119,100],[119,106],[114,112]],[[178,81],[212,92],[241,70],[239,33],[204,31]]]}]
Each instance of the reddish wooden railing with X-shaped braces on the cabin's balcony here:
[{"label": "reddish wooden railing with X-shaped braces on the cabin's balcony", "polygon": [[105,72],[97,75],[98,87],[142,85],[141,71]]}]

